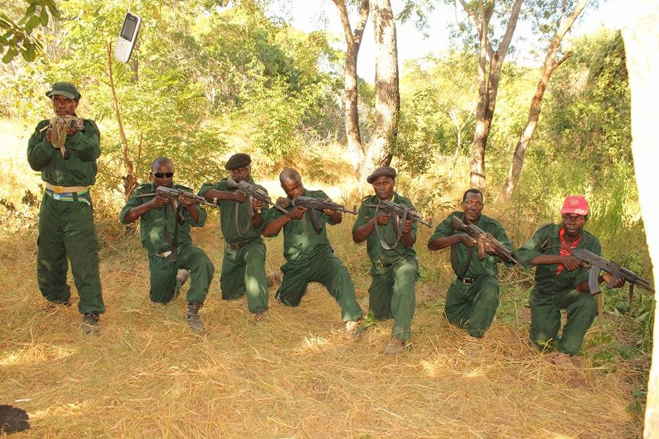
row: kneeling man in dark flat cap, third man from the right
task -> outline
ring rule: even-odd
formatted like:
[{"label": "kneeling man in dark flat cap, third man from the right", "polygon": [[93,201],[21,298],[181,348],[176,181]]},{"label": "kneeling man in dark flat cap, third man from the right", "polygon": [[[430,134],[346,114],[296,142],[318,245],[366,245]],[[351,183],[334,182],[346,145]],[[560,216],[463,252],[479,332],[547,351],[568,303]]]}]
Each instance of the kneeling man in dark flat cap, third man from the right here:
[{"label": "kneeling man in dark flat cap, third man from the right", "polygon": [[[393,190],[395,178],[396,170],[388,166],[375,169],[367,178],[367,182],[373,185],[375,195],[362,199],[357,221],[352,228],[352,239],[356,243],[367,241],[367,252],[371,258],[369,311],[373,311],[378,320],[394,319],[391,329],[393,338],[384,350],[385,354],[392,355],[402,352],[411,339],[415,308],[414,284],[419,278],[419,265],[413,249],[417,239],[417,224],[411,219],[405,219],[400,224],[400,243],[391,248],[393,245],[390,244],[397,238],[394,219],[384,213],[375,216],[375,207],[369,207],[377,205],[380,200],[414,207],[410,200]],[[384,243],[378,237],[378,230]],[[386,250],[383,244],[390,249]]]}]

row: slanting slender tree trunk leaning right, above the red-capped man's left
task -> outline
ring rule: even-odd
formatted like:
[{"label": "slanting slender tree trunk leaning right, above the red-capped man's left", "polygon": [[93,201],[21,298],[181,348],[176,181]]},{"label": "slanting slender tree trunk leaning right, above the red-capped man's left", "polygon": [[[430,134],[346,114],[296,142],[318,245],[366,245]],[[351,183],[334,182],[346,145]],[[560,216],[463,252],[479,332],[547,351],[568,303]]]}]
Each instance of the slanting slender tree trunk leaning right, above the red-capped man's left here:
[{"label": "slanting slender tree trunk leaning right, above the red-capped man's left", "polygon": [[529,109],[529,117],[527,118],[527,126],[524,127],[520,140],[518,141],[515,152],[513,153],[513,160],[510,164],[510,169],[508,171],[508,178],[506,179],[505,185],[503,186],[502,198],[503,200],[508,200],[515,187],[517,186],[518,181],[520,180],[520,174],[522,172],[522,165],[524,165],[524,154],[527,152],[529,143],[531,143],[531,138],[533,133],[535,133],[535,128],[537,126],[537,121],[540,118],[540,106],[542,105],[542,96],[544,91],[547,88],[549,78],[551,74],[554,73],[555,69],[564,62],[570,54],[566,54],[560,60],[556,60],[556,54],[561,45],[563,37],[570,30],[575,20],[581,14],[583,8],[586,7],[588,0],[579,0],[575,5],[575,9],[570,12],[570,14],[561,21],[556,34],[551,40],[549,49],[544,58],[544,65],[542,66],[542,71],[540,71],[540,82],[537,83],[537,88],[535,88],[535,94],[533,99],[531,99],[531,108]]}]

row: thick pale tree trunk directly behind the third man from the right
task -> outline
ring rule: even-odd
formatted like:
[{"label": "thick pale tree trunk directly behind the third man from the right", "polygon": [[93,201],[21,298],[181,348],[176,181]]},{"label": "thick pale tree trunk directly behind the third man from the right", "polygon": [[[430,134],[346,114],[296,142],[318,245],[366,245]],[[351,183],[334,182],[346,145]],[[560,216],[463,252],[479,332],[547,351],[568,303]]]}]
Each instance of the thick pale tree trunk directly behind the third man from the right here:
[{"label": "thick pale tree trunk directly behind the third man from the right", "polygon": [[371,11],[375,37],[375,130],[360,180],[365,180],[373,169],[391,163],[400,116],[396,24],[391,3],[371,0]]}]

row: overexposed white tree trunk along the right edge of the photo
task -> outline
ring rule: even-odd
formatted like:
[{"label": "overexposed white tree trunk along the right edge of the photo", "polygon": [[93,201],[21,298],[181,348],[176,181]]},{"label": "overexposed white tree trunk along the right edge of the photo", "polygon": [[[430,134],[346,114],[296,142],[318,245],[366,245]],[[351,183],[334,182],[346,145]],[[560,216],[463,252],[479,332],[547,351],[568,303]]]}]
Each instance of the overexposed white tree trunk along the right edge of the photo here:
[{"label": "overexposed white tree trunk along the right edge of the photo", "polygon": [[652,365],[647,383],[645,407],[645,439],[659,438],[659,192],[656,189],[656,108],[659,102],[659,8],[653,1],[630,2],[634,20],[623,26],[625,56],[632,91],[632,153],[638,185],[647,248],[654,267],[654,333]]}]

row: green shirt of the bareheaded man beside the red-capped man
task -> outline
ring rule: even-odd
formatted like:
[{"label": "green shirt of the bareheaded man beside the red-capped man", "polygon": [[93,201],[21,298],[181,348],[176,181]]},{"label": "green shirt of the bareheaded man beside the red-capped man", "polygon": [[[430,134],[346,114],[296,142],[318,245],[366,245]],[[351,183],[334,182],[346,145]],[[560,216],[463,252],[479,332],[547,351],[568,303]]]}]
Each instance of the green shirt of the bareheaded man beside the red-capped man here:
[{"label": "green shirt of the bareheaded man beside the red-capped man", "polygon": [[[437,238],[449,237],[458,233],[464,233],[461,230],[454,230],[454,228],[451,227],[451,218],[453,216],[459,217],[462,221],[465,220],[464,212],[450,213],[446,219],[437,224],[435,233],[433,233],[428,240],[428,244],[430,244],[432,241],[435,241]],[[503,229],[503,226],[501,226],[501,224],[496,219],[492,219],[486,215],[481,214],[481,217],[478,218],[478,221],[476,222],[476,227],[481,228],[484,232],[494,236],[501,244],[503,244],[505,248],[513,251],[513,244],[511,243],[510,239],[508,239],[508,235],[506,235],[506,231]],[[456,267],[454,270],[459,270],[459,273],[456,274],[461,274],[467,263],[467,254],[469,253],[469,248],[460,242],[459,244],[453,246],[451,251],[456,252]],[[496,276],[496,274],[498,274],[496,264],[499,261],[500,259],[498,259],[496,256],[493,256],[492,254],[487,254],[487,257],[481,261],[481,259],[478,259],[478,247],[474,247],[474,250],[472,250],[472,259],[469,264],[469,268],[467,269],[467,272],[465,272],[465,274],[461,274],[461,276],[470,278],[478,278],[481,276]]]}]

